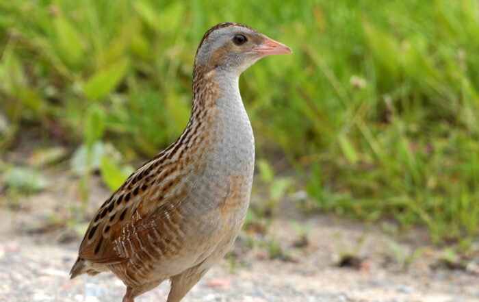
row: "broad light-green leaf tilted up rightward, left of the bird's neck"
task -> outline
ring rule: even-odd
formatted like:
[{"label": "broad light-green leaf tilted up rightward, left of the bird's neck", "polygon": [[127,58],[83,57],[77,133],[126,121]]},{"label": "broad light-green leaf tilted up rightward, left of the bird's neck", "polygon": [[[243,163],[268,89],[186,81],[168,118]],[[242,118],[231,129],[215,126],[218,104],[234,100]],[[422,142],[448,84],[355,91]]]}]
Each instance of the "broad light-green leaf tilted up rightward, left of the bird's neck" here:
[{"label": "broad light-green leaf tilted up rightward, left of the bird's neck", "polygon": [[129,60],[122,59],[97,71],[83,86],[86,97],[91,100],[101,99],[112,92],[128,71]]}]

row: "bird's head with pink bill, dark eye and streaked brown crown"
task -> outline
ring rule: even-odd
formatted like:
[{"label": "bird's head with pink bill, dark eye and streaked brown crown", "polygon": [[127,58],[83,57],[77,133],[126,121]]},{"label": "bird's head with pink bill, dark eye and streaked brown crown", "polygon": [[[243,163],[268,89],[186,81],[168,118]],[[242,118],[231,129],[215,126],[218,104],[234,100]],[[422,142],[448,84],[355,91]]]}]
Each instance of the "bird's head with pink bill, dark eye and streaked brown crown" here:
[{"label": "bird's head with pink bill, dark eye and streaked brown crown", "polygon": [[286,45],[239,23],[220,23],[203,36],[195,68],[238,75],[266,55],[292,53]]}]

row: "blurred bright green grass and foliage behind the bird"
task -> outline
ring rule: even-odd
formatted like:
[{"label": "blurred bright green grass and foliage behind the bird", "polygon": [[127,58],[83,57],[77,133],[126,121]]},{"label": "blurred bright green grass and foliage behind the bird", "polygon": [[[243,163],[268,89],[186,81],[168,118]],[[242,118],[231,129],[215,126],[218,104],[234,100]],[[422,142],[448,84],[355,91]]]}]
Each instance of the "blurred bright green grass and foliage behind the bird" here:
[{"label": "blurred bright green grass and foliage behind the bird", "polygon": [[66,146],[115,188],[185,127],[196,47],[224,21],[294,49],[240,81],[269,199],[477,238],[476,0],[1,1],[0,150]]}]

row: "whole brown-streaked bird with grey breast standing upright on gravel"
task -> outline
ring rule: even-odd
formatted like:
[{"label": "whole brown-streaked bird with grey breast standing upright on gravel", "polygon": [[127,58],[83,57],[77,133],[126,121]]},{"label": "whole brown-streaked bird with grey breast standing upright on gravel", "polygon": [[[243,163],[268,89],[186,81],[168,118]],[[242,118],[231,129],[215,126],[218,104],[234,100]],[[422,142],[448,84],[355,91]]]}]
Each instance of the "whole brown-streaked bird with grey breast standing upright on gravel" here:
[{"label": "whole brown-streaked bird with grey breast standing upright on gravel", "polygon": [[179,138],[133,172],[94,214],[71,279],[111,271],[122,302],[170,280],[179,302],[229,250],[253,184],[255,141],[239,75],[286,45],[240,23],[203,36],[192,77],[192,111]]}]

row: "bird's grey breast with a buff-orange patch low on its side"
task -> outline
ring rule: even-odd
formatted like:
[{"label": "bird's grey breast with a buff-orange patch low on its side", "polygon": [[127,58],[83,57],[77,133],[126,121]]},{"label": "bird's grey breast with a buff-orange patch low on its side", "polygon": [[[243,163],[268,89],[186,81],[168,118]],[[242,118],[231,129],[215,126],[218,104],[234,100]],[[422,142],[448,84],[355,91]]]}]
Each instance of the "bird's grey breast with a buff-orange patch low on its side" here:
[{"label": "bird's grey breast with a buff-orange patch low on its side", "polygon": [[191,213],[205,218],[202,228],[209,232],[224,221],[242,222],[253,184],[255,141],[240,101],[209,108],[200,127],[187,183],[194,200]]}]

